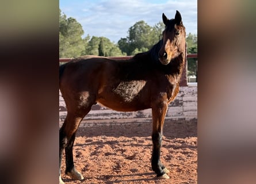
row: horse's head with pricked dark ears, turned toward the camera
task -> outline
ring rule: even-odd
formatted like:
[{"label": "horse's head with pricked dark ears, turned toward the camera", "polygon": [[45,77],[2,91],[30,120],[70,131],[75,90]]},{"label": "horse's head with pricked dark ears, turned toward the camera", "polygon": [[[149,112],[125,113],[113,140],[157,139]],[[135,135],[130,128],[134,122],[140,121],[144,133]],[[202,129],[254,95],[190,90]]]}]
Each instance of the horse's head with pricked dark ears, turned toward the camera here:
[{"label": "horse's head with pricked dark ears, turned toward the camera", "polygon": [[158,53],[158,58],[162,64],[169,64],[171,59],[185,52],[185,27],[181,21],[181,14],[176,11],[175,18],[169,20],[163,13],[163,45]]}]

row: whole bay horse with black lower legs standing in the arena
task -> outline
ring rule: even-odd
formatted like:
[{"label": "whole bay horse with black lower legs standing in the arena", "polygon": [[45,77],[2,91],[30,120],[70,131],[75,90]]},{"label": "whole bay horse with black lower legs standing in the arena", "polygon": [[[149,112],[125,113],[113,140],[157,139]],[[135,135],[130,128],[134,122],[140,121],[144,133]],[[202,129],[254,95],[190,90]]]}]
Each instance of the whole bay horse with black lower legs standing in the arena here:
[{"label": "whole bay horse with black lower legs standing in the arena", "polygon": [[169,179],[160,155],[167,107],[179,91],[185,62],[185,27],[179,11],[169,20],[162,14],[165,30],[150,51],[128,60],[81,56],[59,67],[59,88],[67,116],[59,130],[59,183],[62,153],[66,154],[65,173],[72,179],[83,176],[74,166],[72,147],[80,122],[98,103],[110,109],[131,112],[152,109],[151,167],[157,178]]}]

